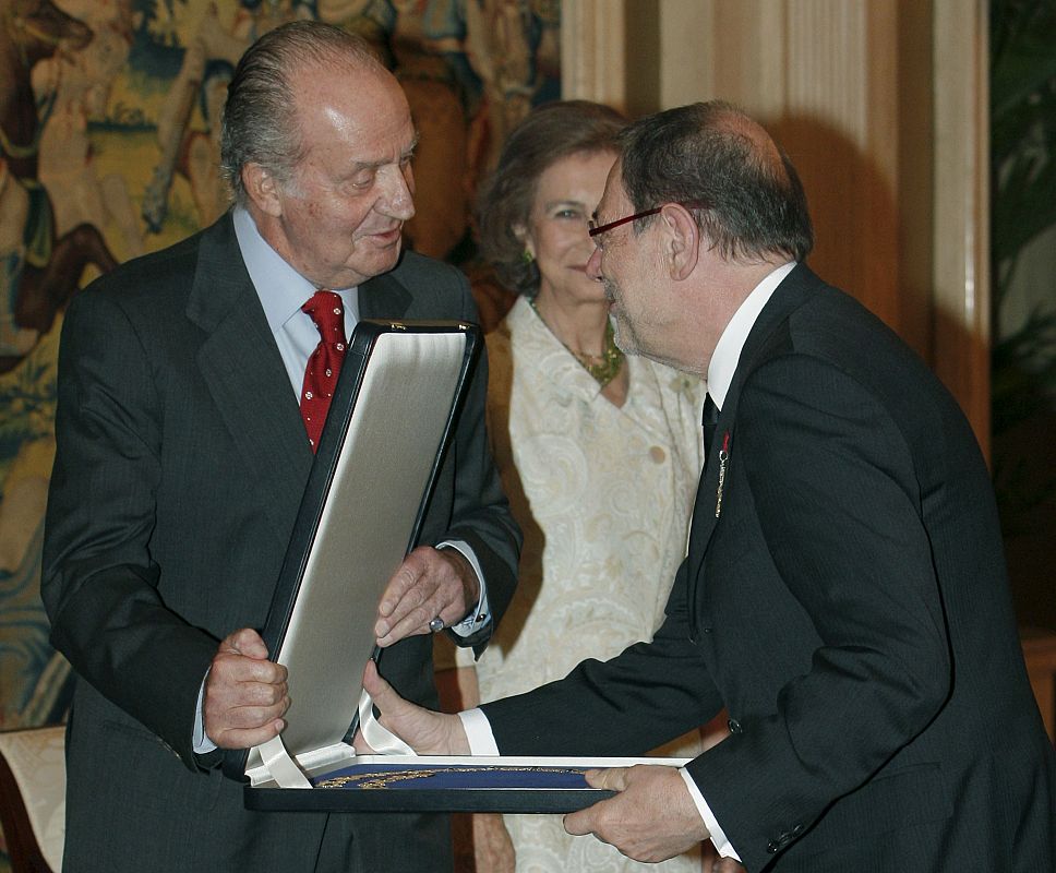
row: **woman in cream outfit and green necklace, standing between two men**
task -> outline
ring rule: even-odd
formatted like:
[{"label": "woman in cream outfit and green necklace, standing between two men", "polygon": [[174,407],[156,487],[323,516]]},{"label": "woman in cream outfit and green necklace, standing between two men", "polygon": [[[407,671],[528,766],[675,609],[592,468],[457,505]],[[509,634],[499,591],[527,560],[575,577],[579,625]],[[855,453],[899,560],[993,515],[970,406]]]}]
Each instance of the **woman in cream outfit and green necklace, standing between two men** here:
[{"label": "woman in cream outfit and green necklace, standing between two men", "polygon": [[[511,133],[482,193],[482,254],[520,294],[488,336],[488,423],[525,546],[488,650],[476,666],[458,660],[463,706],[650,639],[685,554],[704,386],[624,357],[602,285],[586,274],[587,222],[625,123],[597,104],[544,105]],[[700,751],[694,733],[660,754]],[[512,871],[514,853],[520,873],[656,869],[568,836],[560,816],[505,816],[504,829],[503,816],[479,815],[473,835],[478,870]],[[701,861],[660,869],[697,873]]]}]

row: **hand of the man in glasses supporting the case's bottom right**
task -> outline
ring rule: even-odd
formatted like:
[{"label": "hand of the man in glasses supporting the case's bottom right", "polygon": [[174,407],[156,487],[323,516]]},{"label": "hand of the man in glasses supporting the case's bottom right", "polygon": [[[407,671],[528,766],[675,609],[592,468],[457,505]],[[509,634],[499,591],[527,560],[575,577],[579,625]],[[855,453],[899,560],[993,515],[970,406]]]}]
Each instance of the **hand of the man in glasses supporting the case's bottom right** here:
[{"label": "hand of the man in glasses supporting the case's bottom right", "polygon": [[674,767],[587,770],[587,782],[620,793],[566,815],[565,830],[573,836],[593,834],[628,858],[649,863],[674,858],[710,836]]}]

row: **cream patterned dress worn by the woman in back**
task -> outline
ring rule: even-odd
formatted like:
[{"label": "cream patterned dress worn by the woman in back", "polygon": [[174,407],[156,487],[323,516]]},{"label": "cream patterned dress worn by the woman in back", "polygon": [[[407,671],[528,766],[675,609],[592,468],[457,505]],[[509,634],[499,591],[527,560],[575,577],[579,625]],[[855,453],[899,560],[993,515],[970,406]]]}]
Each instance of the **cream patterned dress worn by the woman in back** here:
[{"label": "cream patterned dress worn by the woman in back", "polygon": [[[523,297],[488,337],[488,359],[492,450],[525,546],[513,603],[476,663],[485,702],[652,637],[685,555],[705,396],[699,380],[634,356],[617,408]],[[694,734],[661,754],[700,751]],[[568,836],[557,815],[506,826],[518,873],[700,870],[699,854],[638,864]]]}]

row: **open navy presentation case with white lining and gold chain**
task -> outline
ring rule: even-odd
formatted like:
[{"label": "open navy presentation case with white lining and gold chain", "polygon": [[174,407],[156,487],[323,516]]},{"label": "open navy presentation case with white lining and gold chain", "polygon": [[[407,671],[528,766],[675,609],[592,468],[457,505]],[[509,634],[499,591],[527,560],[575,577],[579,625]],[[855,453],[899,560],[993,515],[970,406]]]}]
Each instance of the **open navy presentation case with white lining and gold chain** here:
[{"label": "open navy presentation case with white lining and gold chain", "polygon": [[[469,323],[361,321],[349,342],[262,636],[289,672],[280,738],[225,754],[264,811],[563,813],[611,792],[583,773],[657,758],[360,755],[376,605],[417,545],[481,344]],[[364,713],[368,711],[364,709]]]}]

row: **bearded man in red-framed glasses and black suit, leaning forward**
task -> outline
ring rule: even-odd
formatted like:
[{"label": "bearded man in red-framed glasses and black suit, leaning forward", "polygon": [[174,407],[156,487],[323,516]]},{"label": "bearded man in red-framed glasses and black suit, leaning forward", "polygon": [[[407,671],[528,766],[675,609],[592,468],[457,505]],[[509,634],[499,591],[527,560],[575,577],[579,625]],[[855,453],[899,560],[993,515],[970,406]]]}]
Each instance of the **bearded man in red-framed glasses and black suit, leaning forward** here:
[{"label": "bearded man in red-framed glasses and black suit, leaning forward", "polygon": [[[729,711],[685,767],[590,775],[569,815],[640,860],[712,839],[747,870],[1056,869],[1056,764],[1031,694],[986,466],[953,398],[803,263],[788,158],[735,108],[624,135],[591,230],[617,343],[708,376],[708,459],[650,644],[456,716],[416,748],[635,754]],[[725,863],[725,861],[723,861]]]}]

